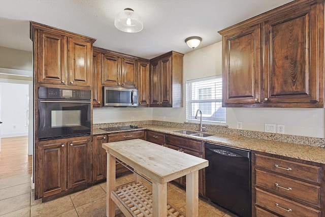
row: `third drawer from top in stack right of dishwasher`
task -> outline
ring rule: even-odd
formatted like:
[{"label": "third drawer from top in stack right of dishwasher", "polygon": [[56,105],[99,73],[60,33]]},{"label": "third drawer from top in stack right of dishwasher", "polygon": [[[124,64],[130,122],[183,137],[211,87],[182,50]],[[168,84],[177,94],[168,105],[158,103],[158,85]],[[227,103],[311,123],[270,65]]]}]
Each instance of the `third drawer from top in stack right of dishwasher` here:
[{"label": "third drawer from top in stack right of dishwasher", "polygon": [[300,203],[279,197],[277,195],[256,190],[256,204],[268,210],[287,217],[319,217],[320,210],[302,205]]}]

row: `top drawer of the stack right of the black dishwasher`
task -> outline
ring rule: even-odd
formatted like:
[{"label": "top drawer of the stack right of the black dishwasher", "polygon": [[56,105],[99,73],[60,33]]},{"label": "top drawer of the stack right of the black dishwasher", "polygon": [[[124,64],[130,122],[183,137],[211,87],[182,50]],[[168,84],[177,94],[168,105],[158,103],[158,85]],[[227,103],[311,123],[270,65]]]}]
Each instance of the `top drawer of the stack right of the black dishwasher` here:
[{"label": "top drawer of the stack right of the black dishwasher", "polygon": [[321,181],[321,168],[308,164],[255,154],[255,166],[308,181],[317,183]]}]

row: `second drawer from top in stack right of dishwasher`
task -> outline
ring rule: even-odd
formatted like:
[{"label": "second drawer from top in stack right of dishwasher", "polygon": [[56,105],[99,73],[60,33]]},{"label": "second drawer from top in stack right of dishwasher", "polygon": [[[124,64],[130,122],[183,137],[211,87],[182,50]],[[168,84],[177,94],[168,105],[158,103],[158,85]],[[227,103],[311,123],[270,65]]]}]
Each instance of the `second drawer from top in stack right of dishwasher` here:
[{"label": "second drawer from top in stack right of dishwasher", "polygon": [[317,185],[261,170],[256,170],[255,174],[257,187],[263,187],[282,195],[320,206],[320,187]]}]

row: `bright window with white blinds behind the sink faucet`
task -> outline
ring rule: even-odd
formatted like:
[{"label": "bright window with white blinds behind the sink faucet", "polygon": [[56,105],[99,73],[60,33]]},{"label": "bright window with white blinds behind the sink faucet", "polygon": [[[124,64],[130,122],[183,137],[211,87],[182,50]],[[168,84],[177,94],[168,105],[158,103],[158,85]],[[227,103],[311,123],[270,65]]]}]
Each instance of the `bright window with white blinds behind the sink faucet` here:
[{"label": "bright window with white blinds behind the sink faucet", "polygon": [[225,124],[221,76],[186,81],[186,121],[198,121],[194,118],[198,109],[202,121]]}]

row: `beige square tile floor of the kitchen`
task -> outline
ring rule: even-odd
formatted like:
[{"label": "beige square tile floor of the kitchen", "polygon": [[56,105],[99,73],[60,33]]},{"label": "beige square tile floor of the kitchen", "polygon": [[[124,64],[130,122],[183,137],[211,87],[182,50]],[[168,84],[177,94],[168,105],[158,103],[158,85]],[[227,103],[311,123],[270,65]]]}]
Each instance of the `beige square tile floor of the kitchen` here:
[{"label": "beige square tile floor of the kitchen", "polygon": [[[116,179],[116,185],[128,183],[133,175]],[[147,188],[150,185],[144,184]],[[168,202],[185,212],[185,191],[176,185],[168,184]],[[0,179],[0,216],[106,216],[106,182],[94,185],[86,190],[58,198],[46,203],[34,200],[34,191],[30,189],[30,175],[9,179]],[[116,209],[116,216],[123,217]],[[236,217],[236,215],[200,199],[200,217]]]}]

